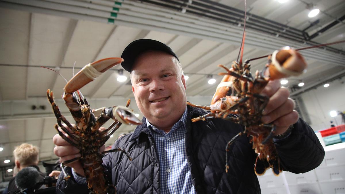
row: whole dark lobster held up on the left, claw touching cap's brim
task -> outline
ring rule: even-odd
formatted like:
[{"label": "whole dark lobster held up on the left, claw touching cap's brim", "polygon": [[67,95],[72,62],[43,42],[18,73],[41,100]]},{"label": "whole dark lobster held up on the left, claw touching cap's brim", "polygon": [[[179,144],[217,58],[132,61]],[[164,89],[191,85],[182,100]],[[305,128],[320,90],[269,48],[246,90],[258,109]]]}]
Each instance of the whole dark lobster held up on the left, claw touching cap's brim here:
[{"label": "whole dark lobster held up on the left, claw touching cap's brim", "polygon": [[[126,106],[103,107],[101,114],[95,117],[90,105],[85,97],[82,96],[79,89],[101,75],[102,72],[105,72],[122,61],[123,59],[121,58],[106,58],[88,64],[73,76],[63,88],[64,93],[62,98],[76,122],[75,127],[61,115],[53,99],[53,92],[50,91],[50,89],[47,90],[47,98],[57,118],[57,124],[55,125],[57,132],[64,140],[72,146],[77,147],[81,155],[80,157],[61,162],[60,166],[62,173],[67,181],[70,176],[66,174],[63,168],[64,165],[79,160],[83,167],[88,182],[88,188],[91,191],[90,193],[116,193],[115,186],[111,185],[104,175],[102,155],[108,152],[120,151],[123,152],[130,161],[131,157],[122,148],[115,148],[102,153],[100,153],[100,148],[122,123],[127,125],[139,125],[141,121],[135,116],[132,110],[128,108],[130,99],[127,101]],[[75,91],[77,91],[79,98]],[[98,129],[110,118],[114,119],[114,122],[106,130],[100,132]],[[65,123],[70,130],[62,123]],[[63,134],[59,128],[68,136]]]}]

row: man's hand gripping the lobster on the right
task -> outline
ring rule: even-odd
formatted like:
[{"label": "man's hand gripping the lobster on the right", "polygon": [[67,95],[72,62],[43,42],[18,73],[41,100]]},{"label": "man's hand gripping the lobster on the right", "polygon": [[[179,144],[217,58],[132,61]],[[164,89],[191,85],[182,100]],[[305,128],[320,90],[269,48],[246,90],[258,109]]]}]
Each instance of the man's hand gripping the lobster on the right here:
[{"label": "man's hand gripping the lobster on the right", "polygon": [[295,102],[289,98],[289,90],[280,87],[280,80],[269,81],[261,95],[268,96],[269,102],[263,112],[262,121],[277,126],[275,135],[283,134],[298,120]]}]

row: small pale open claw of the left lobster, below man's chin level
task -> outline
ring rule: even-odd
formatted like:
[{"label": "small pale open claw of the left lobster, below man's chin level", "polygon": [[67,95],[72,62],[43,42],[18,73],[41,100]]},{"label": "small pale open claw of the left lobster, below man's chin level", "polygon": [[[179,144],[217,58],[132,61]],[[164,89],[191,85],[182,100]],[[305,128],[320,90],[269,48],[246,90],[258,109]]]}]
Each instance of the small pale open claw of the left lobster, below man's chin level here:
[{"label": "small pale open claw of the left lobster, below man's chin level", "polygon": [[125,106],[117,106],[112,111],[115,118],[126,125],[141,125],[141,120]]}]

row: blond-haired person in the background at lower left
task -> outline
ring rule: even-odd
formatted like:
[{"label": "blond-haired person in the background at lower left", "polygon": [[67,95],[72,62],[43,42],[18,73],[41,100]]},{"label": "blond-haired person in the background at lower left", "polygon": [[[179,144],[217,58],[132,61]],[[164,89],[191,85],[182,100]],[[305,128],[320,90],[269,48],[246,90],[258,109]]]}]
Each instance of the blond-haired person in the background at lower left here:
[{"label": "blond-haired person in the background at lower left", "polygon": [[[18,172],[21,171],[23,168],[31,166],[37,169],[39,173],[39,180],[42,181],[45,177],[45,174],[42,173],[39,169],[38,165],[38,154],[39,149],[37,146],[34,146],[32,144],[23,143],[19,146],[16,146],[16,148],[13,151],[14,156],[14,163],[16,164],[16,167],[18,168]],[[8,192],[10,191],[16,191],[19,190],[14,183],[15,177],[13,177],[9,184],[8,184]]]}]

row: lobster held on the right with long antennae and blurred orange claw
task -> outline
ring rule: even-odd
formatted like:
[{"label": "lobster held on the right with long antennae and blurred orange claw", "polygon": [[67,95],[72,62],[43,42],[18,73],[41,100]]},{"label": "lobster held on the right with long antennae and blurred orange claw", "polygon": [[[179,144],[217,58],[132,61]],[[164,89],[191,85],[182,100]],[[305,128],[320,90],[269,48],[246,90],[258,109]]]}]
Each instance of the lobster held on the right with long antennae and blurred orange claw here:
[{"label": "lobster held on the right with long antennae and blurred orange claw", "polygon": [[[210,106],[199,106],[187,102],[188,105],[210,110],[209,113],[191,119],[192,122],[199,120],[208,120],[211,118],[223,118],[244,126],[244,131],[238,133],[226,145],[226,165],[225,171],[228,172],[228,152],[230,145],[235,142],[242,134],[250,136],[250,143],[253,143],[253,149],[257,153],[255,161],[255,173],[263,175],[268,168],[272,168],[273,173],[278,176],[282,172],[279,157],[273,142],[276,126],[272,123],[264,124],[261,120],[263,110],[268,104],[269,97],[260,95],[270,80],[287,78],[289,76],[298,76],[305,72],[307,64],[298,50],[331,45],[339,42],[328,43],[324,45],[293,49],[283,47],[273,52],[272,55],[247,59],[242,62],[243,48],[245,40],[246,25],[246,1],[245,1],[245,19],[243,38],[237,60],[227,68],[224,65],[218,65],[226,70],[219,73],[224,75],[216,89]],[[240,57],[240,60],[238,60]],[[250,73],[250,64],[252,60],[268,57],[265,68],[256,71],[253,76]]]}]

